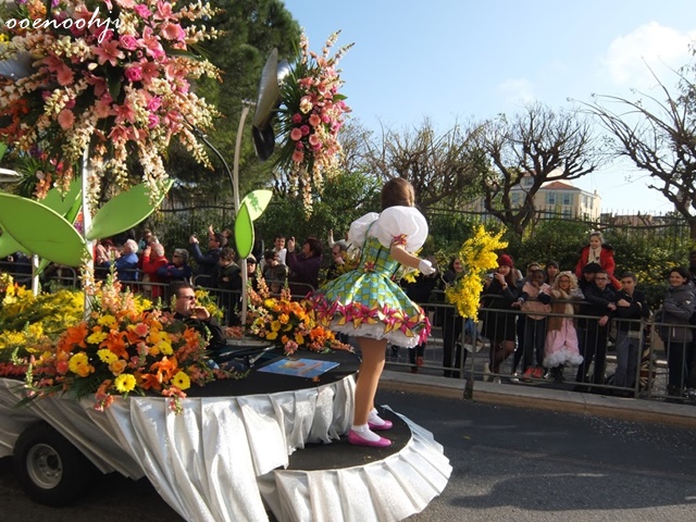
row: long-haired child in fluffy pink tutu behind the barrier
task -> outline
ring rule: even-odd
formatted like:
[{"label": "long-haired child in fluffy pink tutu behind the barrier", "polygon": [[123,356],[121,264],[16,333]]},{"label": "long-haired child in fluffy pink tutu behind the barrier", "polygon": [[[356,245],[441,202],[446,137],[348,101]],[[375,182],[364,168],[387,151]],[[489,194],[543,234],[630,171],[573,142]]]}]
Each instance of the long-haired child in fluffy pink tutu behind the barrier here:
[{"label": "long-haired child in fluffy pink tutu behind the barrier", "polygon": [[570,302],[577,297],[577,279],[572,272],[558,274],[551,286],[551,313],[564,316],[549,316],[544,346],[544,366],[550,370],[557,381],[563,381],[564,364],[576,366],[583,362],[573,324],[573,304]]}]

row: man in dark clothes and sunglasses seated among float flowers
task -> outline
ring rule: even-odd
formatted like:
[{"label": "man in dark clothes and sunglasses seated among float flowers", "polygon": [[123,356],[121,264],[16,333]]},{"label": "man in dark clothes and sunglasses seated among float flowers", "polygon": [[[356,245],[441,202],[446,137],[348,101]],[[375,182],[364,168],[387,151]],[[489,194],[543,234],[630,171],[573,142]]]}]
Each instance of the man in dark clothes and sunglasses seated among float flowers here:
[{"label": "man in dark clothes and sunglasses seated among float flowers", "polygon": [[208,309],[196,301],[196,291],[190,283],[185,281],[172,283],[170,296],[174,300],[174,319],[196,330],[203,339],[207,339],[208,349],[213,357],[225,349],[225,334],[222,327],[215,318],[210,315]]}]

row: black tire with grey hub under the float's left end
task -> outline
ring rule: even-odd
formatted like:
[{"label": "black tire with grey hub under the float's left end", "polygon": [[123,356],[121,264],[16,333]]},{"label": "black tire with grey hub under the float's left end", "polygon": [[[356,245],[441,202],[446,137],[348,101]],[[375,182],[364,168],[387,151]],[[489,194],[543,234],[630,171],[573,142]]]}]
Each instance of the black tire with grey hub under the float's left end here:
[{"label": "black tire with grey hub under the float's left end", "polygon": [[35,502],[61,507],[84,496],[96,468],[46,422],[33,424],[14,445],[20,485]]}]

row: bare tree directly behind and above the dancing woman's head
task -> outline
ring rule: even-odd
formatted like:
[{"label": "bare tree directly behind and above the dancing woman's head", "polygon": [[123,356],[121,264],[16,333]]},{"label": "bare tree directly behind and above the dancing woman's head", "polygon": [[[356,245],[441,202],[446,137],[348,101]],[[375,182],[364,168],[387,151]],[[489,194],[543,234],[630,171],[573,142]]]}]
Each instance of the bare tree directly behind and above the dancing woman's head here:
[{"label": "bare tree directly behind and above the dancing woman's head", "polygon": [[455,125],[437,134],[427,119],[402,133],[383,128],[381,138],[369,144],[365,165],[382,179],[411,182],[422,209],[440,201],[457,203],[472,194],[484,171],[482,154],[471,146],[475,132]]}]

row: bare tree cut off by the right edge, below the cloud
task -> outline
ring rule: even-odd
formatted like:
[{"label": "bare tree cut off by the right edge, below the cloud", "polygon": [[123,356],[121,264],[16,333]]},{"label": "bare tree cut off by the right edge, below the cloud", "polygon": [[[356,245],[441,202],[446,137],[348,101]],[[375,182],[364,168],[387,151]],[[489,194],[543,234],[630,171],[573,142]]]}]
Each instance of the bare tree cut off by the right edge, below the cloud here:
[{"label": "bare tree cut off by the right edge, below the cloud", "polygon": [[[687,70],[686,70],[687,71]],[[649,100],[626,100],[617,96],[594,96],[587,103],[609,130],[617,157],[630,159],[651,178],[649,188],[660,191],[689,226],[696,239],[696,105],[695,86],[684,76],[681,96],[672,96],[655,76],[664,101],[641,94]],[[612,111],[607,104],[617,104]]]}]

